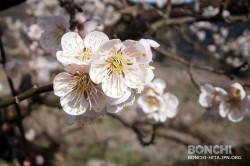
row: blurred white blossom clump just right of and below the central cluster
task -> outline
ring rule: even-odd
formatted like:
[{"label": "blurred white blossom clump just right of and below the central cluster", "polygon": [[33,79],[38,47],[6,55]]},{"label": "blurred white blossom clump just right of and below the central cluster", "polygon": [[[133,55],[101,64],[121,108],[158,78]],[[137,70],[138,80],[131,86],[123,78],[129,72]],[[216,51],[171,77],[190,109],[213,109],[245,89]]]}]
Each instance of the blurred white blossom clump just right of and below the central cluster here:
[{"label": "blurred white blossom clump just right of and below the central cluster", "polygon": [[157,78],[145,86],[138,98],[137,113],[144,115],[152,123],[163,123],[177,114],[178,98],[167,92],[165,82]]}]

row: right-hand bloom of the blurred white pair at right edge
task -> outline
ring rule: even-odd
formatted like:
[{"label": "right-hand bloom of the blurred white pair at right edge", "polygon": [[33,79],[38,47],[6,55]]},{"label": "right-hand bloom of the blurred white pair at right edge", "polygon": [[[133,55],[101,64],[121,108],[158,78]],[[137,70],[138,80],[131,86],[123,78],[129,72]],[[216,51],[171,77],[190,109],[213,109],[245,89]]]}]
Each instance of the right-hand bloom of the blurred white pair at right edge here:
[{"label": "right-hand bloom of the blurred white pair at right edge", "polygon": [[227,117],[232,122],[239,122],[249,111],[249,106],[249,94],[241,84],[234,83],[225,100],[221,102],[219,112],[222,117]]}]

